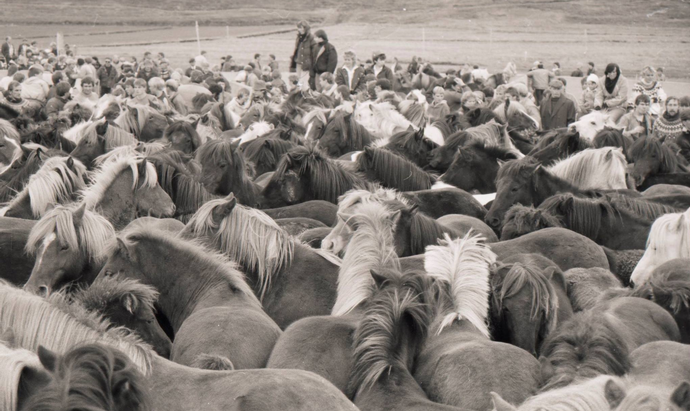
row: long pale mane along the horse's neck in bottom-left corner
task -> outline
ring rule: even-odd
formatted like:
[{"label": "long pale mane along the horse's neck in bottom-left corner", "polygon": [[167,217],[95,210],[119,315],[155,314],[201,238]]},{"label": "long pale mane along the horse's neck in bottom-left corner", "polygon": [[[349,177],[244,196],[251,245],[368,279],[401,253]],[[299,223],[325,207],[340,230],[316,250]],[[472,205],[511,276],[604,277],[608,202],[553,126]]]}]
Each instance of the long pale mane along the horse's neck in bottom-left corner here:
[{"label": "long pale mane along the horse's neck in bottom-left corner", "polygon": [[113,325],[101,315],[70,304],[62,292],[47,299],[0,284],[0,324],[11,328],[18,347],[35,351],[39,345],[65,353],[77,344],[104,343],[123,351],[146,375],[151,371],[153,350],[125,327]]}]

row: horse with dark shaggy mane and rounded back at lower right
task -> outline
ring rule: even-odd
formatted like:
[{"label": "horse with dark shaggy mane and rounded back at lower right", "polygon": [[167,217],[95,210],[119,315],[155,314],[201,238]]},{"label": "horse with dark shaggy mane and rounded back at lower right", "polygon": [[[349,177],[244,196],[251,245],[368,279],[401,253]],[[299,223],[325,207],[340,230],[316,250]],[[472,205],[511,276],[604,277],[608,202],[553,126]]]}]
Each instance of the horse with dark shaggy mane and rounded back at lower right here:
[{"label": "horse with dark shaggy mane and rounded back at lower right", "polygon": [[680,340],[678,325],[651,301],[621,297],[574,314],[544,341],[543,391],[630,369],[630,352],[642,344]]}]

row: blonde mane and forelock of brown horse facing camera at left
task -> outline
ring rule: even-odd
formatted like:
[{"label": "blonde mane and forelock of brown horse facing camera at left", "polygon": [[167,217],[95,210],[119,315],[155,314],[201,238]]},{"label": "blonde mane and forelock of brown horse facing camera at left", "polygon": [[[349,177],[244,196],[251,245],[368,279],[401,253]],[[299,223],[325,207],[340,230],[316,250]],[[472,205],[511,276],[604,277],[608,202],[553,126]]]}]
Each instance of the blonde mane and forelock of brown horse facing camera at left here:
[{"label": "blonde mane and forelock of brown horse facing camera at left", "polygon": [[78,205],[58,206],[44,215],[29,233],[27,254],[35,255],[43,239],[55,234],[60,244],[81,251],[94,263],[101,262],[108,243],[115,237],[115,229],[105,217],[89,210],[84,210],[79,227],[75,227],[73,213],[77,208]]}]

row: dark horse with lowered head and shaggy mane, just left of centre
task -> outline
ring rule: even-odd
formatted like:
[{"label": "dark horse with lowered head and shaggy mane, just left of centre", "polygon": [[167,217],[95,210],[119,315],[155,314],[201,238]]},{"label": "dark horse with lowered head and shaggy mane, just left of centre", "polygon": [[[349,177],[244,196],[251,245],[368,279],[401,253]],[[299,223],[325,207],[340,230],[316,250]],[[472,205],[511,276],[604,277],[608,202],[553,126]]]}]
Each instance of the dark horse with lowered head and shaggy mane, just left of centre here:
[{"label": "dark horse with lowered head and shaggy mane, just left of centre", "polygon": [[262,208],[283,207],[310,200],[337,204],[338,197],[353,188],[371,184],[361,175],[327,157],[314,145],[297,146],[283,155],[264,188]]}]

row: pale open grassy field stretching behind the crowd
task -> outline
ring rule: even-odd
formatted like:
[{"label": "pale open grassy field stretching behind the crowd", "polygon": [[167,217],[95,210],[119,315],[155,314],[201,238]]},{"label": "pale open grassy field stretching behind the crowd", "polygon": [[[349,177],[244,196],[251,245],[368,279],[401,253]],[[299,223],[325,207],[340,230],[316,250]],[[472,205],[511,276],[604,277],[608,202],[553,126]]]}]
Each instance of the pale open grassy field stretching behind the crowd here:
[{"label": "pale open grassy field stretching behind the crowd", "polygon": [[[326,30],[339,52],[353,49],[361,59],[381,50],[401,62],[416,55],[439,67],[469,62],[492,71],[509,60],[524,71],[538,59],[549,66],[558,61],[566,73],[587,61],[601,73],[608,62],[617,62],[632,78],[648,64],[664,67],[668,78],[690,78],[690,4],[675,0],[112,3],[9,0],[0,11],[0,31],[36,38],[42,46],[61,31],[79,53],[163,51],[173,66],[184,67],[197,54],[193,22],[199,20],[210,61],[231,54],[246,62],[256,52],[274,53],[287,68],[295,31],[261,34],[294,29],[307,18]],[[14,24],[2,25],[10,21]],[[66,24],[47,24],[55,21]],[[247,35],[259,36],[243,38]]]}]

